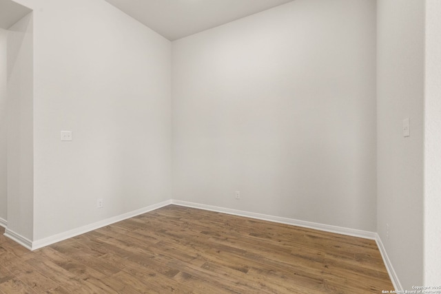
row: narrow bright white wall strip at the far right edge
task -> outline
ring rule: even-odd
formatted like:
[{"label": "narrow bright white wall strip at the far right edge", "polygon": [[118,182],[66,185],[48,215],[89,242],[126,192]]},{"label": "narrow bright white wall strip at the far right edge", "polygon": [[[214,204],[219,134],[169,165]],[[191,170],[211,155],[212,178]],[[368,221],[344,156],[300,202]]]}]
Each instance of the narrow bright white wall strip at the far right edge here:
[{"label": "narrow bright white wall strip at the far right edge", "polygon": [[424,285],[441,285],[441,1],[426,0]]}]

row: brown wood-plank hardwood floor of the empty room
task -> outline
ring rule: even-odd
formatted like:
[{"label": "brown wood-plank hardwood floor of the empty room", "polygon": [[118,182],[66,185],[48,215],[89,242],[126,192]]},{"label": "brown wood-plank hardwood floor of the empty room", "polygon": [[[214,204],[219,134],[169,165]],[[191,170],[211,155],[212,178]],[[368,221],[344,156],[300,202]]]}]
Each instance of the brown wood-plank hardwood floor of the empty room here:
[{"label": "brown wood-plank hardwood floor of the empty room", "polygon": [[37,251],[0,228],[0,293],[381,293],[376,242],[170,205]]}]

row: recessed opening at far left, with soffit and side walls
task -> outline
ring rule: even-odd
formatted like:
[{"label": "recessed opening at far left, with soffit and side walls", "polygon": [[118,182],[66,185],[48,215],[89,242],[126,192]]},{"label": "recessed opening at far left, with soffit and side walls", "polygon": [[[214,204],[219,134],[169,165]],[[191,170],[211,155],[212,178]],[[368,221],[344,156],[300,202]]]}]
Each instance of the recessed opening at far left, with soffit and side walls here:
[{"label": "recessed opening at far left, with soffit and side walls", "polygon": [[33,16],[0,0],[0,225],[32,240]]}]

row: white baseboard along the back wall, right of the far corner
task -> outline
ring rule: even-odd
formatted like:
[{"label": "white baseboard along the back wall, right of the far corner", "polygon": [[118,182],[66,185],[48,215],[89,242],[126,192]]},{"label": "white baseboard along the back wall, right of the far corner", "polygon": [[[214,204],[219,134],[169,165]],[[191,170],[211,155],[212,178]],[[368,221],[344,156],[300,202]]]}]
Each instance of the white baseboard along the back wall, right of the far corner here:
[{"label": "white baseboard along the back wall, right of the far corner", "polygon": [[305,220],[294,220],[292,218],[281,218],[280,216],[268,216],[266,214],[254,213],[248,211],[240,211],[236,209],[229,209],[224,207],[215,207],[212,205],[198,204],[193,202],[172,200],[172,204],[176,204],[183,207],[192,207],[197,209],[204,209],[208,211],[216,211],[220,213],[232,214],[234,216],[245,216],[247,218],[255,218],[257,220],[268,220],[269,222],[278,222],[281,224],[291,224],[297,227],[305,227],[308,229],[316,229],[320,231],[327,231],[330,233],[338,233],[342,235],[350,235],[358,238],[365,238],[369,240],[376,240],[377,233],[369,231],[361,231],[357,229],[349,229],[345,227],[331,226],[329,224],[319,224],[316,222],[306,222]]}]

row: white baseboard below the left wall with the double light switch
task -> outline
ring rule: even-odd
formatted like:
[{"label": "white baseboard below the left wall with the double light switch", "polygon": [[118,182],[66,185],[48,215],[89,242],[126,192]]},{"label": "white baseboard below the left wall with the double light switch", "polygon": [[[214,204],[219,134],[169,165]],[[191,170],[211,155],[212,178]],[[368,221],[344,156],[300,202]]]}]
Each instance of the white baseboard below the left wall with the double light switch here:
[{"label": "white baseboard below the left wall with the double light switch", "polygon": [[114,224],[115,222],[121,222],[121,220],[127,220],[127,218],[133,218],[134,216],[139,216],[143,213],[147,213],[149,211],[153,211],[155,209],[165,207],[171,203],[172,203],[171,200],[166,200],[163,202],[159,202],[158,204],[153,204],[148,207],[144,207],[142,209],[136,209],[134,211],[130,211],[130,212],[121,214],[119,216],[114,216],[113,218],[107,218],[106,220],[101,220],[99,222],[94,222],[93,224],[87,224],[83,227],[79,227],[76,229],[72,229],[70,231],[59,233],[57,235],[52,235],[48,238],[43,238],[43,239],[31,242],[30,248],[31,248],[31,250],[36,250],[36,249],[42,248],[44,246],[48,246],[50,244],[54,244],[54,243],[75,237],[77,235],[81,235],[83,233],[88,233],[90,231],[99,229],[101,227],[108,226],[109,224]]}]

